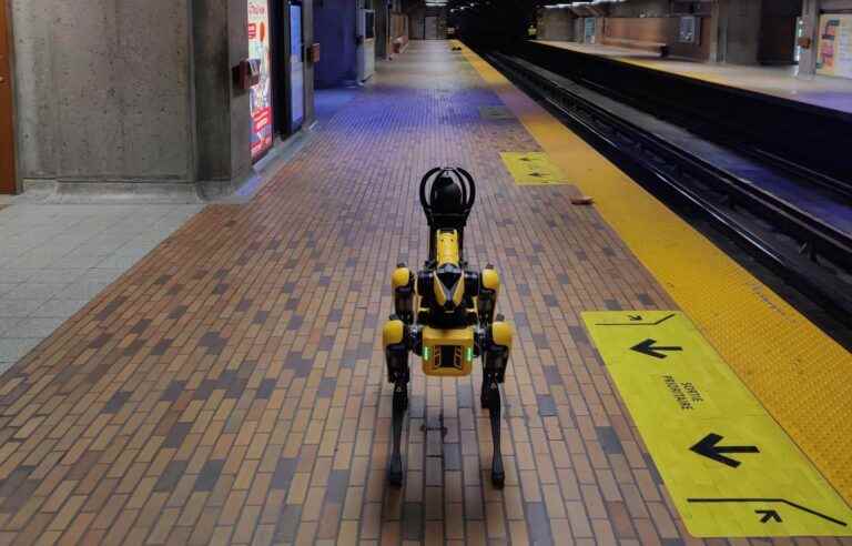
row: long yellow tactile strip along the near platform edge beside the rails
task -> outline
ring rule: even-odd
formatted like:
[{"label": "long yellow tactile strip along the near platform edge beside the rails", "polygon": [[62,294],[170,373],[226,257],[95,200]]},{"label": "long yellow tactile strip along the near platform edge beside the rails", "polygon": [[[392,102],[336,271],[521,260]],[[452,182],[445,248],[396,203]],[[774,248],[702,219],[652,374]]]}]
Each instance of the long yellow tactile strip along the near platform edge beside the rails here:
[{"label": "long yellow tactile strip along the near platform edge beside the rails", "polygon": [[852,502],[852,355],[468,48],[466,59]]}]

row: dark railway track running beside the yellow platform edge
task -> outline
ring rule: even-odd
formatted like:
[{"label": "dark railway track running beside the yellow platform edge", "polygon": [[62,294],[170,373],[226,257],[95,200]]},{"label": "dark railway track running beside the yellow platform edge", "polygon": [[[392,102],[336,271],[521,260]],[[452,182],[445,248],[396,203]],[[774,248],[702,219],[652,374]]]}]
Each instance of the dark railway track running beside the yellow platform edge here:
[{"label": "dark railway track running beside the yellow platform edge", "polygon": [[[519,58],[484,54],[678,213],[723,233],[833,318],[852,326],[852,237],[848,233],[601,108],[582,97],[576,82]],[[775,159],[767,162],[777,168]],[[784,170],[807,172],[792,163]],[[839,202],[844,199],[838,194]]]}]

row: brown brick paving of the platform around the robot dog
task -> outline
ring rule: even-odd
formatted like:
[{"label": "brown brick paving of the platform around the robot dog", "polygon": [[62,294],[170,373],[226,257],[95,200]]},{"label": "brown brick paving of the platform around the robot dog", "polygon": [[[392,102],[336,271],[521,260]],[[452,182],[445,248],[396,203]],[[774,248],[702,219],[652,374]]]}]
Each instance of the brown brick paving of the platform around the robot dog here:
[{"label": "brown brick paving of the platform around the robot dog", "polygon": [[[479,118],[497,103],[413,44],[250,204],[207,208],[3,375],[0,544],[681,544],[579,322],[672,303],[571,186],[510,182],[498,152],[536,146]],[[405,487],[385,484],[379,328],[438,164],[479,181],[469,257],[517,326],[503,492],[478,374],[415,373]]]}]

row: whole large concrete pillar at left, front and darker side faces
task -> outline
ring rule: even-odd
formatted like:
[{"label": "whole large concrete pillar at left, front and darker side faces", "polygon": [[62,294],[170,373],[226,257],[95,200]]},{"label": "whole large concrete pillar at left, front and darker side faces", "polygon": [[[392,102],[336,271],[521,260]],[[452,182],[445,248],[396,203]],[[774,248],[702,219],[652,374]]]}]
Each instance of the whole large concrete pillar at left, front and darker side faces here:
[{"label": "whole large concrete pillar at left, front and darker side faces", "polygon": [[10,1],[24,190],[194,198],[253,172],[248,93],[232,77],[248,57],[245,0]]}]

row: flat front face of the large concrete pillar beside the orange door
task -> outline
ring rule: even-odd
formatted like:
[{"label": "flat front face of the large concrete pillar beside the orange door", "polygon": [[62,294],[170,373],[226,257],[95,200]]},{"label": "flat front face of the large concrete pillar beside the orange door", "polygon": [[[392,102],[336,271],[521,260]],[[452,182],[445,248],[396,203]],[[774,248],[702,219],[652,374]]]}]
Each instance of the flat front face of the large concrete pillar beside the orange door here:
[{"label": "flat front face of the large concrete pillar beside the orange door", "polygon": [[12,24],[24,188],[192,185],[190,2],[12,0]]}]

